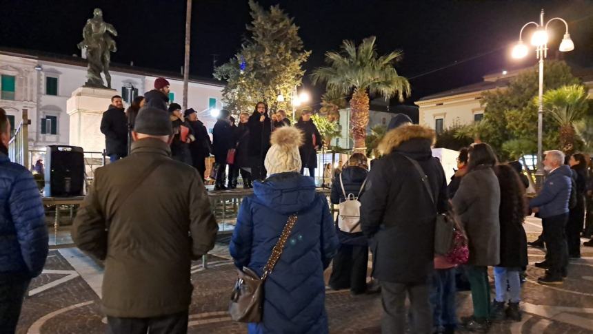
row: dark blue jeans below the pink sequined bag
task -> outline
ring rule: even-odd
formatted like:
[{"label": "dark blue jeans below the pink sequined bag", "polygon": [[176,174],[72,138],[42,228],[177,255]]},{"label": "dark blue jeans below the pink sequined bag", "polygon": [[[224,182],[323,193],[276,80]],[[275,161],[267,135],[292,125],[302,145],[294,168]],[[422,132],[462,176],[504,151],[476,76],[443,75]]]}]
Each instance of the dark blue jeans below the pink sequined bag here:
[{"label": "dark blue jeans below the pink sequined bag", "polygon": [[456,327],[455,293],[455,268],[435,269],[430,290],[435,331],[452,330]]}]

